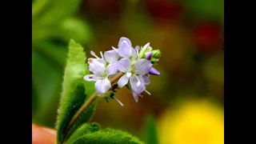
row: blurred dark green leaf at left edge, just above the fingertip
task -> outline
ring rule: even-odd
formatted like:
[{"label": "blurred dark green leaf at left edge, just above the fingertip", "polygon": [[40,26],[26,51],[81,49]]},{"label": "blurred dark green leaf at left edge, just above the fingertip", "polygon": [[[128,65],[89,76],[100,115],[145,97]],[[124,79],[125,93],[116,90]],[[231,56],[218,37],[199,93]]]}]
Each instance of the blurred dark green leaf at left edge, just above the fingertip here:
[{"label": "blurred dark green leaf at left edge, just above the fingertip", "polygon": [[36,100],[32,122],[47,127],[54,127],[62,83],[62,73],[54,66],[32,51],[32,85]]}]

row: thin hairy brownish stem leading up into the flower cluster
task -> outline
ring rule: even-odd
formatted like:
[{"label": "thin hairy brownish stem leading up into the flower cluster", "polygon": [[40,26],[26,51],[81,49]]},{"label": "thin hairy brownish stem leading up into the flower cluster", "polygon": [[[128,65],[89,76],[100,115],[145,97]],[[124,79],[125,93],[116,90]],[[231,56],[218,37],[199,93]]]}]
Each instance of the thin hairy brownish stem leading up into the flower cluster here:
[{"label": "thin hairy brownish stem leading up into the flower cluster", "polygon": [[[114,86],[113,84],[118,81],[119,78],[122,77],[122,73],[118,73],[114,78],[110,79],[111,88]],[[110,90],[111,90],[110,88]],[[69,134],[70,129],[74,125],[74,122],[78,120],[78,118],[82,115],[82,113],[87,110],[87,108],[98,98],[98,93],[95,92],[90,96],[90,98],[85,102],[85,104],[82,105],[82,107],[78,110],[76,114],[74,114],[74,117],[71,119],[70,124],[67,126],[66,134],[64,135],[63,141],[61,143],[64,143],[66,141],[66,136]]]}]

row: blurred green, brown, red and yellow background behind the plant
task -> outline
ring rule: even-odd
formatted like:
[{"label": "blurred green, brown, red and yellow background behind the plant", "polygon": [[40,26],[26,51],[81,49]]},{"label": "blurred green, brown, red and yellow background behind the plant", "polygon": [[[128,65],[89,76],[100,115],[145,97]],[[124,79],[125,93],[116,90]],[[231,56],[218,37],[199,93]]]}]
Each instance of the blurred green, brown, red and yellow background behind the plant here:
[{"label": "blurred green, brown, red and yellow background behind the plant", "polygon": [[145,141],[154,122],[151,143],[224,143],[223,33],[223,0],[32,0],[32,122],[54,128],[70,38],[98,53],[124,36],[162,51],[161,75],[138,103],[126,89],[124,107],[99,100],[92,122]]}]

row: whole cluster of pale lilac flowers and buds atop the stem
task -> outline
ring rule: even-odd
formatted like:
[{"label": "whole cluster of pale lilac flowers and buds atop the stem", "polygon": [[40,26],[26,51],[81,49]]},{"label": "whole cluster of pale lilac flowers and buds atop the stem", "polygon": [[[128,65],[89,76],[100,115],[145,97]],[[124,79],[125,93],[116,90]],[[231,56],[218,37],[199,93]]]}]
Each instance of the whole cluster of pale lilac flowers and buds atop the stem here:
[{"label": "whole cluster of pale lilac flowers and buds atop the stem", "polygon": [[[84,80],[94,81],[98,94],[105,94],[116,83],[119,88],[127,86],[138,102],[138,96],[150,84],[150,74],[160,74],[153,67],[160,58],[160,51],[153,50],[150,42],[142,47],[132,47],[130,39],[124,37],[120,38],[118,48],[112,46],[112,49],[104,54],[100,52],[101,58],[90,52],[94,56],[88,58],[88,68],[92,74],[84,76]],[[150,94],[148,91],[146,93]]]}]

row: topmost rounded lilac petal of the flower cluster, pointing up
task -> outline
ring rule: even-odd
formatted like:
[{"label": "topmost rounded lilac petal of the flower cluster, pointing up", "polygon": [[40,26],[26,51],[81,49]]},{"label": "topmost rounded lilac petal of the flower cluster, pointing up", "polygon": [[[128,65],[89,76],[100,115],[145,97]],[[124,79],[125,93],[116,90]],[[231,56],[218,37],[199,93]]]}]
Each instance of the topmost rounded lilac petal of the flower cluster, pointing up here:
[{"label": "topmost rounded lilac petal of the flower cluster, pointing up", "polygon": [[132,47],[130,39],[120,38],[118,43],[118,54],[123,58],[129,58],[132,54]]}]

